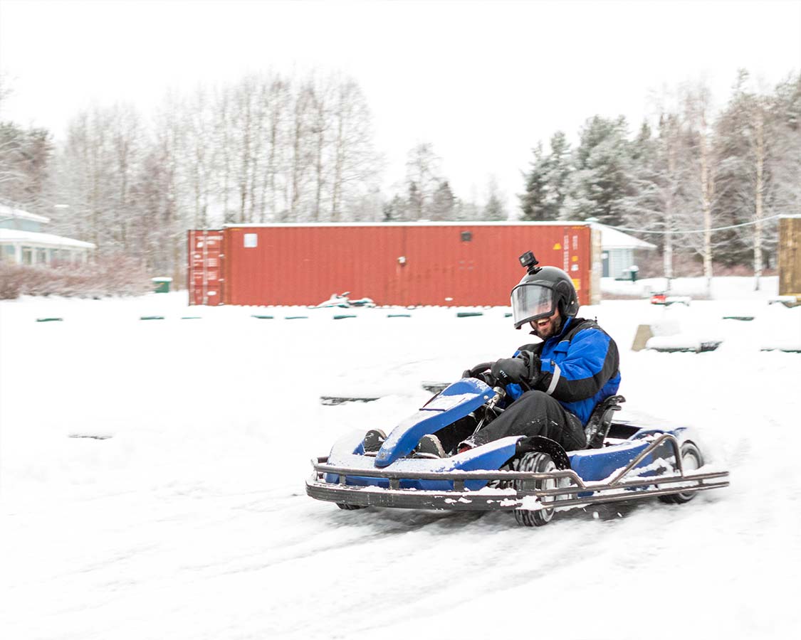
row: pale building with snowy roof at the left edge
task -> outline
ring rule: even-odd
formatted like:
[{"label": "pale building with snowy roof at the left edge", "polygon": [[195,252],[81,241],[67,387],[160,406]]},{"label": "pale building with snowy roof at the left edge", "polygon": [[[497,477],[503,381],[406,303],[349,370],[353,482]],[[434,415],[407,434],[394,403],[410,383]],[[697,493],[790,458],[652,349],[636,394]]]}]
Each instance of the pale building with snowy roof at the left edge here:
[{"label": "pale building with snowy roof at the left edge", "polygon": [[16,265],[51,265],[54,262],[88,262],[92,242],[42,232],[50,222],[11,204],[0,203],[0,261]]}]

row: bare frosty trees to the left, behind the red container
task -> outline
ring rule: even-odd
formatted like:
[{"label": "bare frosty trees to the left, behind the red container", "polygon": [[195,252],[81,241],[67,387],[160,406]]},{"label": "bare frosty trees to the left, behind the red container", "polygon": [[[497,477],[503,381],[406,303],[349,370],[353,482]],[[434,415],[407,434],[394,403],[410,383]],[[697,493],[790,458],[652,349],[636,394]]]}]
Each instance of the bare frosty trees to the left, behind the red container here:
[{"label": "bare frosty trees to the left, behind the red container", "polygon": [[0,196],[46,215],[100,255],[180,277],[185,232],[222,224],[477,219],[506,216],[450,190],[429,144],[409,151],[400,194],[380,193],[372,114],[351,78],[280,74],[169,95],[155,118],[95,107],[63,140],[0,126]]}]

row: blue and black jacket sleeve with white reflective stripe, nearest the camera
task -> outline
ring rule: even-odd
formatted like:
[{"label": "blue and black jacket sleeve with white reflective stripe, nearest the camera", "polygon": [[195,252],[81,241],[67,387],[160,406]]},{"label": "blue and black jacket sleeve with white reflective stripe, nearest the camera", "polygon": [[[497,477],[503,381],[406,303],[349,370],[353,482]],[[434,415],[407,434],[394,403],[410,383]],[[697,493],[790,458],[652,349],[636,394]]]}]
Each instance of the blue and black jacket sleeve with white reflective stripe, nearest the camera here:
[{"label": "blue and black jacket sleeve with white reflective stripe, nearest the camera", "polygon": [[562,402],[592,398],[609,382],[620,364],[618,346],[602,330],[578,331],[570,342],[560,342],[553,359],[543,359],[537,390]]}]

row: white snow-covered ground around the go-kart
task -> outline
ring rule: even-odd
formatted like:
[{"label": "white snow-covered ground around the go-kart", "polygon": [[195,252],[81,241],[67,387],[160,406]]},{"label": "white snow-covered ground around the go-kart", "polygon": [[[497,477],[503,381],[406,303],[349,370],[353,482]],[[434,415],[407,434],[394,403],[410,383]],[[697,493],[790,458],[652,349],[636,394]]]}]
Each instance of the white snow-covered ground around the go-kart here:
[{"label": "white snow-covered ground around the go-kart", "polygon": [[[0,302],[0,638],[795,637],[801,354],[761,348],[801,349],[801,307],[719,286],[581,315],[620,346],[620,417],[698,427],[731,486],[538,529],[304,492],[340,434],[391,429],[421,382],[525,342],[505,309]],[[723,342],[630,350],[660,323]],[[320,404],[336,394],[383,397]]]}]

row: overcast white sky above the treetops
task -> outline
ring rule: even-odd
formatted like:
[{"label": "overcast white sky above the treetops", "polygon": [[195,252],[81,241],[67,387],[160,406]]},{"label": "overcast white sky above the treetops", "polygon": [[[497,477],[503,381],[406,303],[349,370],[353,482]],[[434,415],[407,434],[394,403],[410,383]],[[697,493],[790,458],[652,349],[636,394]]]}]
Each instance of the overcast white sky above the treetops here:
[{"label": "overcast white sky above the treetops", "polygon": [[768,88],[801,68],[801,2],[0,0],[4,120],[59,138],[92,103],[147,115],[170,88],[340,71],[367,95],[385,186],[432,142],[457,195],[494,174],[510,206],[538,140],[594,114],[634,130],[681,82],[725,102],[739,67]]}]

